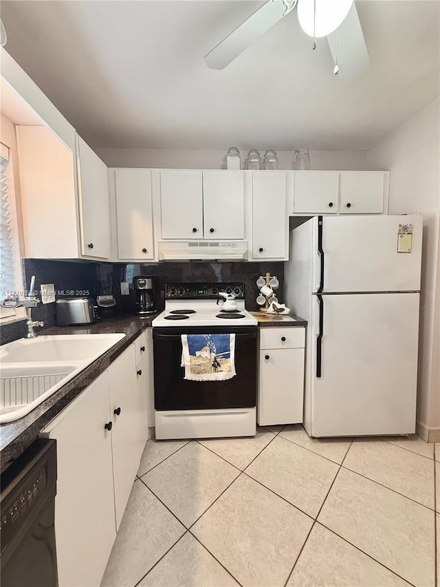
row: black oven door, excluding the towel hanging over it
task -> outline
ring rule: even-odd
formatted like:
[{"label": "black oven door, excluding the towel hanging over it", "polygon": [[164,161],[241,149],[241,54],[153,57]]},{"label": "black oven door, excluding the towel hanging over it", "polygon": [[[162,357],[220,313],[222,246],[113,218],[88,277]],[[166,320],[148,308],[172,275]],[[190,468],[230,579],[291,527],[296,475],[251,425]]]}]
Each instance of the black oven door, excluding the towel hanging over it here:
[{"label": "black oven door, excluding the towel hanging over it", "polygon": [[[188,381],[181,363],[181,334],[235,334],[236,376]],[[220,409],[256,405],[256,326],[153,328],[156,410]]]}]

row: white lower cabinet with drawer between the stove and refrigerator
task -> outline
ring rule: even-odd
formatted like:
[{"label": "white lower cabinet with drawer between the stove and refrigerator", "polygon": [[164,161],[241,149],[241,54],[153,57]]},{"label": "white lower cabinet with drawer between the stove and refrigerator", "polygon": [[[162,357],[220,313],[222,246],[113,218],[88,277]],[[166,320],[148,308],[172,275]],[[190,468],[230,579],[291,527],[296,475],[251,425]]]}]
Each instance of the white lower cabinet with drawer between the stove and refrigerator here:
[{"label": "white lower cabinet with drawer between the stove and refrigerator", "polygon": [[303,422],[305,328],[262,328],[258,422]]}]

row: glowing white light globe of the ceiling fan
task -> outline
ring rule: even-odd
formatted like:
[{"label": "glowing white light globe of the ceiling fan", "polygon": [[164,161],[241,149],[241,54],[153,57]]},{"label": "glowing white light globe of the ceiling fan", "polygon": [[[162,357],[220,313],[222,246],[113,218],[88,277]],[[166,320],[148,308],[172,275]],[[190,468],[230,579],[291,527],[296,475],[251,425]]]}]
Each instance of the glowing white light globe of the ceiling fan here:
[{"label": "glowing white light globe of the ceiling fan", "polygon": [[352,4],[353,0],[316,0],[315,21],[315,0],[298,0],[298,21],[306,34],[318,39],[340,26]]}]

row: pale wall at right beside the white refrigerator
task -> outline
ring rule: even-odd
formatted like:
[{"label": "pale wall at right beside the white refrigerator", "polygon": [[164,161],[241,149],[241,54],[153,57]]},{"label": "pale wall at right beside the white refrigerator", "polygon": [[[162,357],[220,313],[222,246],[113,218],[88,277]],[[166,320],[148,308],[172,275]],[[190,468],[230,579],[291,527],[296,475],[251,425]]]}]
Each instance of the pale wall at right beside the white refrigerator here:
[{"label": "pale wall at right beside the white refrigerator", "polygon": [[390,214],[423,215],[419,433],[440,442],[439,98],[366,151],[366,169],[391,170]]}]

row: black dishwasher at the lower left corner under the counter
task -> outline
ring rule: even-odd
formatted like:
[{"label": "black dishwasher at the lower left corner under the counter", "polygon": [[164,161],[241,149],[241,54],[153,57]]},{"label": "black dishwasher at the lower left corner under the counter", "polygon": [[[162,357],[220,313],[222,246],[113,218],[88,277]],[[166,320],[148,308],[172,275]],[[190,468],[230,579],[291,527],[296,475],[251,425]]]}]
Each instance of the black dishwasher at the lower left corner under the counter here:
[{"label": "black dishwasher at the lower left corner under the counter", "polygon": [[35,440],[0,483],[1,586],[57,587],[56,440]]}]

